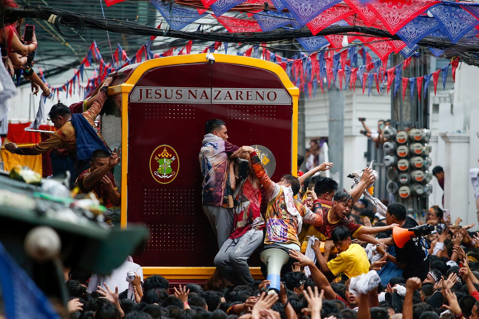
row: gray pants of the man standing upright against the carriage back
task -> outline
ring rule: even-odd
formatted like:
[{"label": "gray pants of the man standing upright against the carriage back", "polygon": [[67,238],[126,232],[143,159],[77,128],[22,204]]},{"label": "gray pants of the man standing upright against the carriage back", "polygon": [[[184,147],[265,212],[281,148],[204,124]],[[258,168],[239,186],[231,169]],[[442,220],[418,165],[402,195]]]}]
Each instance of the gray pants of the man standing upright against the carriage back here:
[{"label": "gray pants of the man standing upright against the carriage back", "polygon": [[203,211],[218,239],[218,248],[221,248],[233,229],[233,209],[203,205]]}]

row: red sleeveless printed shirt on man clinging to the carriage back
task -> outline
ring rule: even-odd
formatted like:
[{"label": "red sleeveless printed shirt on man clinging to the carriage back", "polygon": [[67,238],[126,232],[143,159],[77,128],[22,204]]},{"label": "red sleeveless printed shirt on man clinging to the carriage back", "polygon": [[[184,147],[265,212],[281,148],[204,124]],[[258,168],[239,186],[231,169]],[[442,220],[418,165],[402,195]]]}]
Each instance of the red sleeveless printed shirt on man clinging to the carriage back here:
[{"label": "red sleeveless printed shirt on man clinging to the carriage back", "polygon": [[254,188],[248,178],[244,182],[243,189],[239,191],[235,199],[233,232],[229,235],[229,238],[241,237],[252,229],[263,230],[264,220],[260,207],[261,189]]}]

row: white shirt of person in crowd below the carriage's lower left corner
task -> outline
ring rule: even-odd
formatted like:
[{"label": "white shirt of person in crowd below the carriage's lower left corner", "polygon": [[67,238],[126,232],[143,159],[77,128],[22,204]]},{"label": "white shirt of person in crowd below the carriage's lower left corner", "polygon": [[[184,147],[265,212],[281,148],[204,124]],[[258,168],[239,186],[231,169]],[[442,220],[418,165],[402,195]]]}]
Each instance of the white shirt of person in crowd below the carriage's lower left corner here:
[{"label": "white shirt of person in crowd below the carriage's lower left corner", "polygon": [[106,283],[106,285],[113,291],[115,290],[115,287],[118,286],[118,293],[122,293],[128,289],[128,299],[135,301],[133,284],[126,281],[126,273],[129,271],[137,273],[143,284],[143,269],[141,266],[125,260],[125,262],[121,264],[120,267],[114,269],[109,276],[103,277],[97,274],[91,275],[87,291],[91,293],[97,290],[98,286],[104,288],[105,286],[103,286],[103,283]]}]

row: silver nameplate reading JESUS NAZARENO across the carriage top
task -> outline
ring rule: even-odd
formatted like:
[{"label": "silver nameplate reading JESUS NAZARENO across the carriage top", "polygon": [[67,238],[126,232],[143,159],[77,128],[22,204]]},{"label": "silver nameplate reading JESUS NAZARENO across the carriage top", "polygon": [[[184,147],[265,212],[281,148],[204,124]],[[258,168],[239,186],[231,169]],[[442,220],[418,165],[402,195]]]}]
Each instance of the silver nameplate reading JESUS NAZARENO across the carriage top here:
[{"label": "silver nameplate reading JESUS NAZARENO across the carriage top", "polygon": [[136,87],[130,102],[288,105],[292,99],[284,88]]}]

